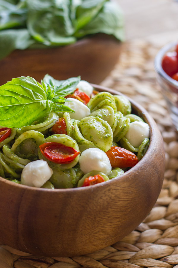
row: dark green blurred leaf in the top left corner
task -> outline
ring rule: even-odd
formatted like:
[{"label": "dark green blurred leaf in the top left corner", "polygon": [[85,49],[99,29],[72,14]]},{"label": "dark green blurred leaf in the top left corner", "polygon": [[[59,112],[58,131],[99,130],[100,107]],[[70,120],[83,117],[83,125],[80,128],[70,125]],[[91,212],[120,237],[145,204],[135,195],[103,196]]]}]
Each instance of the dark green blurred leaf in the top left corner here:
[{"label": "dark green blurred leaf in the top left corner", "polygon": [[26,8],[0,0],[0,30],[25,26]]}]

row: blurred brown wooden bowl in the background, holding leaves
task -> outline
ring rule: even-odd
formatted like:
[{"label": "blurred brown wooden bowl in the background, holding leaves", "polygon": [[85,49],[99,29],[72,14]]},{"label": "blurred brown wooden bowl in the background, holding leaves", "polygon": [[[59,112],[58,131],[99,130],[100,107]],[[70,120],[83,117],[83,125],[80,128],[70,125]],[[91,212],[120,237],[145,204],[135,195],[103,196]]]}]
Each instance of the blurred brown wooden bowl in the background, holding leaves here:
[{"label": "blurred brown wooden bowl in the background, holding leaves", "polygon": [[27,75],[40,82],[45,74],[58,80],[81,75],[82,80],[99,84],[118,62],[120,51],[121,42],[104,34],[69,46],[15,50],[0,61],[0,85]]}]

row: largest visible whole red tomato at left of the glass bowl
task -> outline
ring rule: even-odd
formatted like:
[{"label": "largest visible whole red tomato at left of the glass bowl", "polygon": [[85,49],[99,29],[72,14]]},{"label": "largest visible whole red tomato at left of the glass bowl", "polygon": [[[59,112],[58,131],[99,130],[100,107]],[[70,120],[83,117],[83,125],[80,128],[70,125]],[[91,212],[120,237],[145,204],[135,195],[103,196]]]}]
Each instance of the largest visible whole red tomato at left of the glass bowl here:
[{"label": "largest visible whole red tomato at left of the glass bowl", "polygon": [[173,76],[173,74],[178,72],[178,57],[175,51],[168,52],[164,55],[162,68],[169,76]]}]

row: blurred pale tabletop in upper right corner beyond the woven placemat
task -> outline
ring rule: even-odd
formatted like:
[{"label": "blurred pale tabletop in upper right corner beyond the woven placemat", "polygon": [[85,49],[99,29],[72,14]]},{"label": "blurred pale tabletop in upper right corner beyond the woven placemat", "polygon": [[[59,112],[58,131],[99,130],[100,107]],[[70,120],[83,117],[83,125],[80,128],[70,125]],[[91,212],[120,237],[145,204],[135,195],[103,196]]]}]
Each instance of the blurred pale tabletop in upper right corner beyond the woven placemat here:
[{"label": "blurred pale tabletop in upper right corner beyond the woven placemat", "polygon": [[[178,1],[116,0],[125,14],[126,38],[178,34]],[[177,35],[178,36],[178,35]],[[178,39],[178,37],[175,36]]]}]

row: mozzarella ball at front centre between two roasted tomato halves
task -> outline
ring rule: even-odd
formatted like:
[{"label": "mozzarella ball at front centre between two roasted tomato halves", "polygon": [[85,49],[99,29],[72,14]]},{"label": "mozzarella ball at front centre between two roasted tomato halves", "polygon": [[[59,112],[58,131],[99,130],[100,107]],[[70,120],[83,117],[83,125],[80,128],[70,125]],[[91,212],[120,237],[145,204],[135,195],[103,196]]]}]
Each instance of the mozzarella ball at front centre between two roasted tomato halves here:
[{"label": "mozzarella ball at front centre between two roasted tomato halves", "polygon": [[89,148],[82,152],[79,158],[80,169],[86,174],[90,171],[100,171],[104,174],[111,172],[109,158],[98,148]]}]

